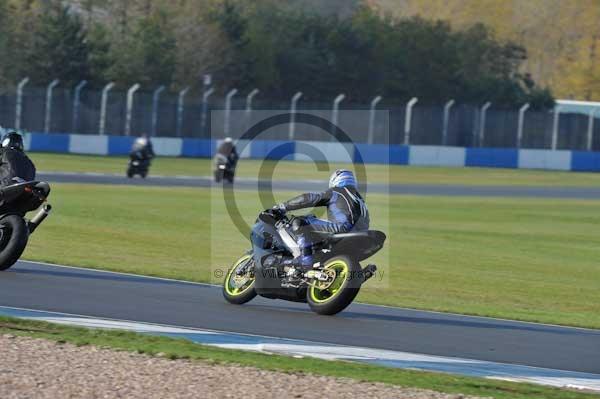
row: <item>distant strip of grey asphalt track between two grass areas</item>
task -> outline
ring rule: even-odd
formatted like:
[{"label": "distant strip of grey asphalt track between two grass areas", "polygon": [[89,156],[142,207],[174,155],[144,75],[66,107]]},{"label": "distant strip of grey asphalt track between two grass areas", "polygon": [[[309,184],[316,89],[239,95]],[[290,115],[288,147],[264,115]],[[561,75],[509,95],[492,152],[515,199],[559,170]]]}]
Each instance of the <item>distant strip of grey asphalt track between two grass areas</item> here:
[{"label": "distant strip of grey asphalt track between two grass areas", "polygon": [[[150,176],[147,179],[128,179],[125,176],[96,173],[40,172],[37,178],[50,183],[116,184],[164,187],[216,187],[210,177]],[[247,190],[321,191],[326,182],[315,180],[237,179],[235,187]],[[369,184],[368,192],[404,195],[478,196],[478,197],[535,197],[600,199],[600,187],[530,187],[530,186],[461,186],[420,184]]]}]

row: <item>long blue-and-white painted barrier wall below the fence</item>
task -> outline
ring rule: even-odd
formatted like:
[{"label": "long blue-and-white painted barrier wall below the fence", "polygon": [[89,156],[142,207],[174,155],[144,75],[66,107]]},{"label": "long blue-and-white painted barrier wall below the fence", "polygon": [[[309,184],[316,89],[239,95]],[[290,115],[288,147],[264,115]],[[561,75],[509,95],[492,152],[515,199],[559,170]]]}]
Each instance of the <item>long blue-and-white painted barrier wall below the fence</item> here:
[{"label": "long blue-and-white painted barrier wall below the fence", "polygon": [[[29,133],[25,147],[29,151],[125,155],[133,137],[85,136],[70,134]],[[159,156],[212,157],[219,144],[216,140],[192,138],[154,138]],[[600,172],[600,153],[586,151],[551,151],[508,148],[462,148],[442,146],[404,146],[352,144],[318,141],[255,140],[239,143],[242,158],[273,160],[310,160],[310,149],[318,160],[330,162],[364,162],[370,164],[456,166],[486,168],[551,169]],[[297,151],[297,152],[296,152]],[[323,158],[323,159],[321,159]]]}]

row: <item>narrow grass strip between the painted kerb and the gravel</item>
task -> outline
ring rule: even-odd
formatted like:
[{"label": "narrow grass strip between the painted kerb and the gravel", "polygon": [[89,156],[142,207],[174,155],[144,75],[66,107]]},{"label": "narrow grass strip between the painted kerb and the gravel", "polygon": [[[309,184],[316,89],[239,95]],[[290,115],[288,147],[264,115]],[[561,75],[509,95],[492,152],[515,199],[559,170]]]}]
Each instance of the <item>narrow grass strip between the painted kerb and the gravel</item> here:
[{"label": "narrow grass strip between the painted kerb and the gravel", "polygon": [[69,342],[75,345],[95,345],[116,350],[156,355],[170,359],[191,359],[209,363],[239,364],[288,373],[311,373],[359,381],[383,382],[403,387],[432,389],[439,392],[462,393],[483,397],[583,399],[591,394],[450,374],[398,370],[359,363],[297,359],[286,356],[219,349],[194,344],[183,339],[141,335],[125,331],[88,330],[45,322],[0,317],[0,333],[25,335]]}]

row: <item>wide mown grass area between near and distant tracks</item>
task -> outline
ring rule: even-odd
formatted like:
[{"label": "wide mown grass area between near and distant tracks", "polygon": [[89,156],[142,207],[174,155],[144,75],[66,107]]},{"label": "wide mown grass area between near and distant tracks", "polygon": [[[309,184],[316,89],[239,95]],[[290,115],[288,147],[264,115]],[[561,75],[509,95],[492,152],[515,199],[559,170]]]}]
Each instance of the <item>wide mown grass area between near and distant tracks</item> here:
[{"label": "wide mown grass area between near and distant tracks", "polygon": [[[236,198],[251,223],[257,194]],[[26,259],[220,282],[212,270],[249,247],[216,190],[54,184],[51,202]],[[600,328],[600,201],[370,195],[369,208],[387,252],[358,300]]]}]

